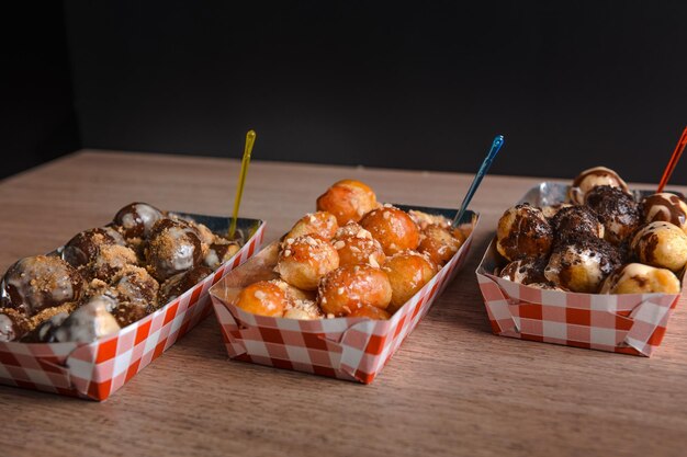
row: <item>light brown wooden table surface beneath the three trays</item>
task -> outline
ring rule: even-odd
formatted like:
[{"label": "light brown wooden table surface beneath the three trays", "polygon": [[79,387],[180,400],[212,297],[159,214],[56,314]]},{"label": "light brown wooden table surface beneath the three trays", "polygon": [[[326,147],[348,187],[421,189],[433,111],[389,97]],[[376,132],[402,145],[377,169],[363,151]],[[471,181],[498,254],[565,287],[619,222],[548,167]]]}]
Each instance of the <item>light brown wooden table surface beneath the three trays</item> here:
[{"label": "light brown wooden table surface beneath the three trays", "polygon": [[[124,204],[223,215],[238,162],[80,151],[0,182],[0,270]],[[285,231],[333,182],[455,206],[471,176],[254,162],[243,214]],[[687,310],[641,358],[494,336],[474,270],[503,210],[541,179],[488,176],[464,270],[370,386],[227,359],[210,317],[108,401],[0,387],[0,455],[686,455]],[[685,188],[682,188],[683,192]]]}]

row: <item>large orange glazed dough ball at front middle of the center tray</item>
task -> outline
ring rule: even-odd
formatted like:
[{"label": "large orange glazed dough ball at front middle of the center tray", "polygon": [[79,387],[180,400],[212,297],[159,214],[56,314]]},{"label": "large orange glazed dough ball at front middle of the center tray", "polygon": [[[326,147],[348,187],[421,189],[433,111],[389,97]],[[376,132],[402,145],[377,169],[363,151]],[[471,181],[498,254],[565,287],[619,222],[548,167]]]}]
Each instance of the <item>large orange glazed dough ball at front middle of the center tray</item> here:
[{"label": "large orange glazed dough ball at front middle of the center tray", "polygon": [[392,297],[386,273],[370,265],[341,266],[322,279],[318,290],[322,310],[337,317],[365,305],[385,309]]}]

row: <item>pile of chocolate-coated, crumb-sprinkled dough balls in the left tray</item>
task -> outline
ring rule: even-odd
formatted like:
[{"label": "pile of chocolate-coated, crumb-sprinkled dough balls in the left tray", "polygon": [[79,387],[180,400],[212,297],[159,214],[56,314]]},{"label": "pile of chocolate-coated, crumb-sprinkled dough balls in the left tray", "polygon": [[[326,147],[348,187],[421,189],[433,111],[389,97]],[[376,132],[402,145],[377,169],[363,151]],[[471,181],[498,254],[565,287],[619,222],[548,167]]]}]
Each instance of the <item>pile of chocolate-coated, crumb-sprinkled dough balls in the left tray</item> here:
[{"label": "pile of chocolate-coated, crumb-sprinkled dough balls in the left tray", "polygon": [[240,240],[145,203],[19,260],[0,284],[0,341],[91,342],[165,306],[209,276]]}]

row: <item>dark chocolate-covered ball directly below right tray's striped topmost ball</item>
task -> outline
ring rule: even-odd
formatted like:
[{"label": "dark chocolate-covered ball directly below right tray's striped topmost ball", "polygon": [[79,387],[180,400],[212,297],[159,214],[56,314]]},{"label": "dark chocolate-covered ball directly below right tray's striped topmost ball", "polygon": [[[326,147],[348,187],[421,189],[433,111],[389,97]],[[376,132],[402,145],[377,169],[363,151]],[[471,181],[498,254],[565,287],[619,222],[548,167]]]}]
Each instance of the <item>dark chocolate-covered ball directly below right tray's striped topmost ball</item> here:
[{"label": "dark chocolate-covered ball directly below right tray's striped topmost ball", "polygon": [[626,242],[639,228],[639,205],[632,195],[618,187],[599,185],[587,192],[585,204],[604,224],[604,239],[612,244]]}]

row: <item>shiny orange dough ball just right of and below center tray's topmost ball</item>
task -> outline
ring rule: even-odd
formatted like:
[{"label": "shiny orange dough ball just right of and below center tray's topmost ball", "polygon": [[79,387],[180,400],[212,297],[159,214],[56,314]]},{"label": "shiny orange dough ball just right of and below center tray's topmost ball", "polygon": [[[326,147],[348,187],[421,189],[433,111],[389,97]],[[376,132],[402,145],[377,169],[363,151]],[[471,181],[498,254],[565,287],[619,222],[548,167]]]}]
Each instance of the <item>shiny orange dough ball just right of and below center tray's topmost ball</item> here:
[{"label": "shiny orange dough ball just right of and below center tray's topmost ball", "polygon": [[417,224],[402,209],[383,206],[365,214],[360,220],[362,228],[382,244],[386,255],[394,255],[407,249],[417,249],[420,230]]}]

